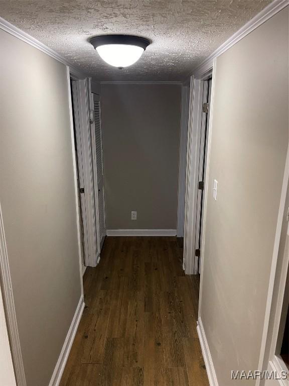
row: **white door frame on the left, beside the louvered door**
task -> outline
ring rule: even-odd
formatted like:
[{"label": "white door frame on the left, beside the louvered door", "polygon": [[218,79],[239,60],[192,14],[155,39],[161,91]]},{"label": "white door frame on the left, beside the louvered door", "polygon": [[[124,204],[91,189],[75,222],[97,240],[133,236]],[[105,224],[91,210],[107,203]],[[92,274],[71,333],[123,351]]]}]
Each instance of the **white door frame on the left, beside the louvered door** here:
[{"label": "white door frame on the left, beside the louvered door", "polygon": [[84,228],[84,264],[95,267],[99,261],[99,247],[97,243],[97,216],[95,214],[95,195],[93,186],[93,159],[91,153],[91,127],[89,90],[90,78],[79,79],[73,74],[75,132],[77,156],[79,165],[79,179],[84,193],[81,196],[82,218]]}]

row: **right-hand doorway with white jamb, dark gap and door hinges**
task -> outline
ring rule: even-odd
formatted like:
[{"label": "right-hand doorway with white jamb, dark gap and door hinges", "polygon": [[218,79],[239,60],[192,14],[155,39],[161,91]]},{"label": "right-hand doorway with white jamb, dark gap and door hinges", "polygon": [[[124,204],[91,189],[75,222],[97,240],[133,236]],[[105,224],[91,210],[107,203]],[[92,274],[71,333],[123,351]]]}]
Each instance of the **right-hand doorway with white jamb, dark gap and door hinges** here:
[{"label": "right-hand doorway with white jamb, dark gap and door hinges", "polygon": [[209,154],[212,70],[201,79],[191,77],[186,166],[186,203],[183,268],[198,275],[202,267],[206,170]]}]

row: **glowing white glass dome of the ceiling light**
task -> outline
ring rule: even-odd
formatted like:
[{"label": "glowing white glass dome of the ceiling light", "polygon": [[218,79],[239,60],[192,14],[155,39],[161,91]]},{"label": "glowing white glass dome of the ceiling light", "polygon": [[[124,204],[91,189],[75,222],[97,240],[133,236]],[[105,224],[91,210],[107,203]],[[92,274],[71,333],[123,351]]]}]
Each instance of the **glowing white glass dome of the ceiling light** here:
[{"label": "glowing white glass dome of the ceiling light", "polygon": [[105,44],[96,48],[99,56],[114,67],[128,67],[135,63],[144,51],[142,47],[126,44]]}]

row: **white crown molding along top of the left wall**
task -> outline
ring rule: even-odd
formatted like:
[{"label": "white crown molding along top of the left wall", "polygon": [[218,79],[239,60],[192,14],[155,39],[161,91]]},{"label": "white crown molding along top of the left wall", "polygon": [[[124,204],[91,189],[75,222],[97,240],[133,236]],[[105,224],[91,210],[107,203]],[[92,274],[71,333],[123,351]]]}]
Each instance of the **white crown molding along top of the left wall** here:
[{"label": "white crown molding along top of the left wall", "polygon": [[88,75],[80,71],[78,68],[74,67],[68,60],[64,59],[56,51],[52,50],[45,44],[41,43],[39,40],[33,38],[26,32],[22,31],[18,27],[15,27],[13,24],[9,23],[7,20],[0,17],[0,30],[8,32],[10,35],[15,36],[16,38],[22,40],[23,42],[29,44],[30,46],[37,48],[38,50],[44,52],[46,55],[49,55],[53,59],[59,61],[60,63],[69,66],[70,72],[78,78],[85,78]]}]

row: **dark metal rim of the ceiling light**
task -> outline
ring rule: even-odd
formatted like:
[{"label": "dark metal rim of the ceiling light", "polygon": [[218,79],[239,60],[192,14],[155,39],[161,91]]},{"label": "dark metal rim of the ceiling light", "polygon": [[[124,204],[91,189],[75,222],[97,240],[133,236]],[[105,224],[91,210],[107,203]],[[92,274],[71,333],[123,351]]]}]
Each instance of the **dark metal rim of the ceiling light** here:
[{"label": "dark metal rim of the ceiling light", "polygon": [[143,48],[145,51],[151,43],[149,39],[133,35],[99,35],[89,40],[89,43],[96,49],[105,44],[126,44]]}]

